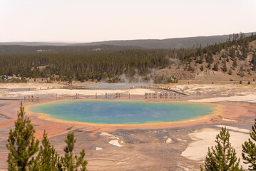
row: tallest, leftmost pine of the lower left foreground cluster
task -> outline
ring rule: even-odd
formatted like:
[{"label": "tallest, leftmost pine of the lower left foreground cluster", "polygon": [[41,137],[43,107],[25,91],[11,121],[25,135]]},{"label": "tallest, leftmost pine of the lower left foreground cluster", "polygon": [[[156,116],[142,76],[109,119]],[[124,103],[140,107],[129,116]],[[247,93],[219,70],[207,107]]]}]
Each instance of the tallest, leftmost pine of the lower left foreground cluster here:
[{"label": "tallest, leftmost pine of the lower left foreground cluster", "polygon": [[25,116],[24,107],[20,107],[18,119],[15,122],[14,130],[10,130],[7,149],[8,154],[8,170],[33,170],[33,155],[39,150],[39,140],[35,140],[34,127],[31,120]]}]

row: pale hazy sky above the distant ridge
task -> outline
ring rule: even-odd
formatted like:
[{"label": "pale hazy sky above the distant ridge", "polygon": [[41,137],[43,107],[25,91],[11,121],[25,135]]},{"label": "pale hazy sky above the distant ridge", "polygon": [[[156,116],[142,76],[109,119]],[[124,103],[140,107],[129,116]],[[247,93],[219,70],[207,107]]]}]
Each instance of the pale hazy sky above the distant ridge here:
[{"label": "pale hazy sky above the distant ridge", "polygon": [[106,41],[256,31],[255,0],[0,0],[0,41]]}]

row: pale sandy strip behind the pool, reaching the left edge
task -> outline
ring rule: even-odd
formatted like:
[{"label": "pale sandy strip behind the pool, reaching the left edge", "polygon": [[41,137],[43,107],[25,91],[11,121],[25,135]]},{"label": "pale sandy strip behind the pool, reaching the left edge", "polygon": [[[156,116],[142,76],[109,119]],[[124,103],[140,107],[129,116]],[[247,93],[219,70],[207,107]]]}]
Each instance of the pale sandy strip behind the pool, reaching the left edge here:
[{"label": "pale sandy strip behind the pool, reaching the left edge", "polygon": [[[33,95],[34,98],[41,95],[56,96],[76,96],[79,95],[115,95],[116,93],[128,95],[144,95],[145,93],[155,93],[148,89],[128,89],[128,90],[77,90],[63,88],[66,85],[57,83],[4,83],[0,84],[0,98],[24,98]],[[19,90],[30,88],[29,90]]]}]

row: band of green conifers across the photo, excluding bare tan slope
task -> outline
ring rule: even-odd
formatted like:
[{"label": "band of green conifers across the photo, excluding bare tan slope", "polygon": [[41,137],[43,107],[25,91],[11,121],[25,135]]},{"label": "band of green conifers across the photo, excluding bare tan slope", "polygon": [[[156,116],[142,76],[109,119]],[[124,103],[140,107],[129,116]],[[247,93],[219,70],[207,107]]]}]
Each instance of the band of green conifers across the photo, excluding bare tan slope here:
[{"label": "band of green conifers across the photo, excluding bare tan slope", "polygon": [[[227,72],[226,62],[245,60],[251,41],[256,40],[256,35],[245,37],[244,33],[231,35],[225,43],[202,48],[180,49],[129,49],[120,51],[43,51],[40,53],[0,53],[0,76],[19,74],[24,78],[48,78],[49,81],[120,81],[120,76],[125,74],[128,78],[141,76],[145,81],[150,80],[148,74],[153,70],[170,67],[174,60],[178,65],[183,65],[185,71],[195,71],[191,63],[208,63],[208,68],[218,71],[218,63],[214,63],[213,55],[220,53],[222,71]],[[65,48],[62,47],[61,48]],[[73,47],[76,49],[76,47]],[[57,48],[58,49],[58,48]],[[240,53],[240,51],[242,53]],[[173,60],[174,59],[174,60]],[[256,55],[251,64],[252,71],[256,68]],[[43,67],[42,67],[43,66]],[[203,71],[203,66],[200,70]],[[241,76],[243,68],[240,68]],[[232,74],[231,68],[229,71]],[[154,78],[161,82],[160,78]],[[132,79],[131,79],[132,80]],[[160,81],[159,81],[160,80]],[[3,82],[3,81],[2,81]]]}]

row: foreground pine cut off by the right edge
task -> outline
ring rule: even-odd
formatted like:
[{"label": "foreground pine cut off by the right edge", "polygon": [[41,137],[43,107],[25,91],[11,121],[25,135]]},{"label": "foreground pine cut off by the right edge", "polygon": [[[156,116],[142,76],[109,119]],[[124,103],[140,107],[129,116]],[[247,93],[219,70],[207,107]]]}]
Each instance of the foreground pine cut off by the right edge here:
[{"label": "foreground pine cut off by the right edge", "polygon": [[245,164],[249,164],[249,170],[256,170],[256,119],[255,124],[252,125],[250,138],[242,145],[242,159],[245,160]]}]

